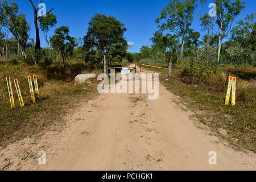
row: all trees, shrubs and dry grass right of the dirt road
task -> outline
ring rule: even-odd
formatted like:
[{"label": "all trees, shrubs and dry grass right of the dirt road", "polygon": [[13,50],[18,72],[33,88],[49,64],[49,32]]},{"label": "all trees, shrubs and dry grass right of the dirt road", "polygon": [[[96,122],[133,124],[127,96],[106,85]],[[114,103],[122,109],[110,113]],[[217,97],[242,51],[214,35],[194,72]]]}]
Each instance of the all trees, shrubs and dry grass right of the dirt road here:
[{"label": "all trees, shrubs and dry grass right of the dirt road", "polygon": [[[200,18],[201,35],[191,28],[200,2],[170,1],[156,19],[152,46],[142,46],[129,59],[164,68],[171,61],[171,77],[162,77],[167,89],[234,147],[256,152],[255,14],[237,19],[245,2],[216,0],[217,16],[206,12]],[[237,77],[236,106],[225,106],[229,76]]]}]

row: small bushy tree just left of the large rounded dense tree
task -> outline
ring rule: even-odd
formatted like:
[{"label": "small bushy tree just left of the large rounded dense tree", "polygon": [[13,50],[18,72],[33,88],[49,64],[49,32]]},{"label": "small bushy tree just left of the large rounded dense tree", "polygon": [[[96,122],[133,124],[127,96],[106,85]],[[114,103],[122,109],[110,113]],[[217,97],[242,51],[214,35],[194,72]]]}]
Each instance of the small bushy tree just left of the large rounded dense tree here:
[{"label": "small bushy tree just left of the large rounded dense tree", "polygon": [[75,47],[75,38],[69,36],[68,33],[69,28],[67,26],[62,26],[56,28],[55,34],[50,39],[51,46],[55,51],[59,52],[62,57],[64,68],[67,57],[73,55],[73,49]]}]

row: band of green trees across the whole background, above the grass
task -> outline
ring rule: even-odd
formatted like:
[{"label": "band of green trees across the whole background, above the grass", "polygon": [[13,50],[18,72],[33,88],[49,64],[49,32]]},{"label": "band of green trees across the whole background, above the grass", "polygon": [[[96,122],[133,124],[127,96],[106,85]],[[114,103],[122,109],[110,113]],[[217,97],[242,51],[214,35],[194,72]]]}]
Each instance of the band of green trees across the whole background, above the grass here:
[{"label": "band of green trees across the whole background, above the grass", "polygon": [[[216,17],[201,16],[201,28],[193,30],[192,22],[198,7],[204,0],[172,0],[155,20],[159,30],[150,39],[152,46],[142,46],[140,52],[129,53],[127,40],[124,38],[125,24],[113,16],[95,14],[89,22],[84,38],[69,36],[69,27],[55,29],[52,36],[49,30],[55,27],[57,18],[54,9],[46,16],[37,16],[35,4],[31,0],[34,14],[36,38],[30,38],[28,31],[32,27],[26,16],[19,13],[15,2],[0,1],[0,55],[2,59],[22,59],[37,64],[42,61],[51,64],[53,60],[85,60],[93,67],[102,67],[103,57],[108,62],[128,60],[167,64],[185,60],[199,60],[209,63],[256,65],[256,22],[255,14],[247,15],[242,20],[237,16],[245,9],[245,2],[240,0],[216,0]],[[236,26],[233,26],[237,22]],[[40,46],[40,32],[43,33],[46,48]],[[225,43],[224,40],[229,38]]]}]

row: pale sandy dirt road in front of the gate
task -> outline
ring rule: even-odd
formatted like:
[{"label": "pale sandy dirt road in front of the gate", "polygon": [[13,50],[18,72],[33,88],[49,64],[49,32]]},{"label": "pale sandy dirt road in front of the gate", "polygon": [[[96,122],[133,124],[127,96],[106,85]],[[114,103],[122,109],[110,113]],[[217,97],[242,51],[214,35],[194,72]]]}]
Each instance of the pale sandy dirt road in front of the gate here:
[{"label": "pale sandy dirt road in front of the gate", "polygon": [[[23,147],[35,154],[46,151],[47,164],[39,166],[34,156],[27,162],[14,162],[8,169],[256,169],[255,154],[224,146],[198,127],[193,113],[175,100],[162,85],[158,100],[148,100],[146,94],[101,94],[70,113],[64,130],[48,131],[35,144],[32,139],[24,140],[22,146],[13,144],[1,159],[9,158],[10,150]],[[209,164],[210,151],[216,151],[217,165]]]}]

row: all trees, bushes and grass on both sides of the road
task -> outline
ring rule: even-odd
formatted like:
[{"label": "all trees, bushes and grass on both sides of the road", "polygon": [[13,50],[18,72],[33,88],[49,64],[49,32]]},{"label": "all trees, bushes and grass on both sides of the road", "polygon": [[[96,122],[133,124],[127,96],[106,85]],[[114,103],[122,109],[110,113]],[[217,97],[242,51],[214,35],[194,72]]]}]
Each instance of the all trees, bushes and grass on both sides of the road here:
[{"label": "all trees, bushes and grass on both sides of the road", "polygon": [[[114,16],[92,15],[84,37],[74,38],[68,26],[55,27],[54,9],[40,17],[36,1],[26,1],[35,15],[33,27],[17,3],[0,0],[1,147],[63,122],[65,112],[81,97],[86,101],[96,96],[96,83],[75,85],[73,80],[80,73],[102,71],[105,57],[114,67],[137,63],[167,68],[171,61],[172,76],[163,80],[164,85],[184,98],[205,125],[234,146],[256,152],[256,22],[255,14],[237,19],[245,2],[215,0],[216,17],[209,16],[208,9],[201,15],[202,34],[192,24],[205,1],[171,0],[155,19],[158,31],[152,32],[152,45],[130,53],[127,28]],[[31,28],[35,39],[29,36]],[[53,35],[48,35],[52,28]],[[44,48],[39,34],[44,35]],[[27,76],[33,74],[41,93],[34,105],[27,84]],[[224,106],[229,74],[237,77],[236,106]],[[18,78],[25,107],[15,102],[15,109],[10,109],[7,76]]]}]

